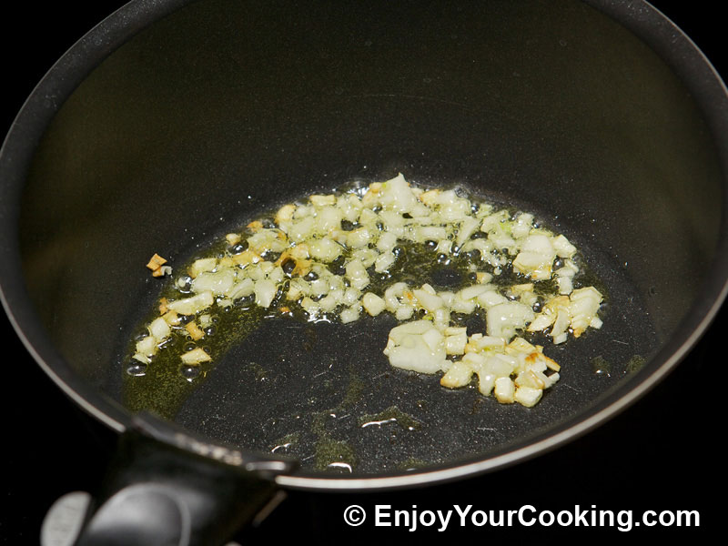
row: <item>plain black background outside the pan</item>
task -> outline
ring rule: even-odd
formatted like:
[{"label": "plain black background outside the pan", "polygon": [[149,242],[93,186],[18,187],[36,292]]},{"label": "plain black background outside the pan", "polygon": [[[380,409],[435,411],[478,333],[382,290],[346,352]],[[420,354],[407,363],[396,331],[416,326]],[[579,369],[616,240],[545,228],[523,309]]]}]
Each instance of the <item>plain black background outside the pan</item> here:
[{"label": "plain black background outside the pan", "polygon": [[[98,1],[83,3],[83,7],[76,3],[8,4],[0,11],[3,136],[45,71],[124,2]],[[725,32],[721,3],[652,4],[693,38],[719,73],[728,75],[721,47]],[[719,349],[726,325],[728,309],[724,308],[699,346],[670,377],[616,419],[559,450],[512,469],[422,490],[359,495],[293,491],[247,539],[292,541],[308,535],[319,543],[364,541],[370,527],[365,524],[354,530],[342,523],[341,514],[351,503],[365,509],[387,503],[400,510],[412,504],[421,510],[442,510],[456,503],[471,503],[481,510],[518,509],[523,504],[550,511],[572,510],[575,504],[612,511],[699,510],[702,525],[697,530],[610,531],[611,538],[620,541],[663,540],[675,538],[675,533],[697,538],[721,523],[716,519],[721,514],[714,492],[723,492],[725,478],[720,440],[725,430],[721,399],[725,364],[724,351]],[[76,410],[45,378],[15,338],[4,314],[0,338],[5,367],[5,457],[0,490],[5,508],[0,512],[0,541],[36,544],[45,511],[56,498],[71,490],[96,490],[114,437]],[[373,538],[379,541],[420,538],[406,531],[376,531]],[[481,540],[502,535],[518,542],[526,531],[470,528],[469,532]],[[599,534],[594,530],[568,532],[580,540]],[[537,534],[544,543],[563,540],[553,528]],[[447,537],[452,538],[450,532]]]}]

